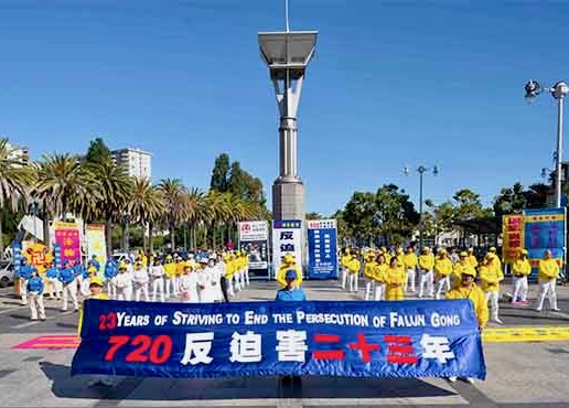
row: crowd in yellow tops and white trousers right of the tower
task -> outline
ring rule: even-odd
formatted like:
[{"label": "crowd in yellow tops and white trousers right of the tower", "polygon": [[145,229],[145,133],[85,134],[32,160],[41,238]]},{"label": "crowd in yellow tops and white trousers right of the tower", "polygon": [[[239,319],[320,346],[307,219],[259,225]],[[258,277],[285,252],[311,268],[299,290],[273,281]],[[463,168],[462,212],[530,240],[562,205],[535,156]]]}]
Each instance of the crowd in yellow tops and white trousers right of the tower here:
[{"label": "crowd in yellow tops and white trousers right of the tower", "polygon": [[[512,302],[518,305],[529,304],[528,281],[532,265],[527,259],[528,251],[519,251],[512,265],[513,288]],[[442,299],[454,296],[452,290],[460,290],[462,277],[471,276],[480,281],[485,303],[490,303],[492,320],[498,324],[498,300],[501,282],[504,280],[503,265],[496,248],[492,247],[479,261],[472,248],[458,253],[440,248],[434,254],[429,247],[417,255],[412,246],[387,250],[385,247],[374,250],[371,248],[345,248],[341,254],[342,289],[350,292],[358,291],[358,279],[365,279],[365,300],[402,300],[406,296],[417,294],[419,299]],[[539,293],[536,310],[541,311],[545,299],[549,307],[557,308],[555,291],[559,278],[559,265],[547,250],[538,264]],[[450,294],[449,294],[450,293]]]}]

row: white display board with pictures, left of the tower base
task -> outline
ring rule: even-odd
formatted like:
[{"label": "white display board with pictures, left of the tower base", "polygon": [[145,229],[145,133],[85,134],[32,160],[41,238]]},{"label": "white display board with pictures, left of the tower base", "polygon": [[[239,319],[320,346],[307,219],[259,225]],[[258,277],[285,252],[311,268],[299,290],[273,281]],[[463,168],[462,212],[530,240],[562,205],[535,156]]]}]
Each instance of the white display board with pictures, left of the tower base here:
[{"label": "white display board with pictures, left of the tower base", "polygon": [[239,223],[239,249],[249,255],[249,270],[269,265],[269,224],[266,221]]}]

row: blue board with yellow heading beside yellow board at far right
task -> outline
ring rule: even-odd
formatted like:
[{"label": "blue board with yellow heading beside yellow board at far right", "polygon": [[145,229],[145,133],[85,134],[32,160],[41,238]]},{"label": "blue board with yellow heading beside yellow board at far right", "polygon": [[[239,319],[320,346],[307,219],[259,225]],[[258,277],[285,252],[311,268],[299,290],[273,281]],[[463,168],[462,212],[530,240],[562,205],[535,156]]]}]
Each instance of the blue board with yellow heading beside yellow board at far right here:
[{"label": "blue board with yellow heading beside yellow board at far right", "polygon": [[551,250],[552,258],[560,266],[565,262],[565,208],[525,210],[525,244],[529,261],[534,267],[532,275],[537,273],[539,259],[544,253]]}]

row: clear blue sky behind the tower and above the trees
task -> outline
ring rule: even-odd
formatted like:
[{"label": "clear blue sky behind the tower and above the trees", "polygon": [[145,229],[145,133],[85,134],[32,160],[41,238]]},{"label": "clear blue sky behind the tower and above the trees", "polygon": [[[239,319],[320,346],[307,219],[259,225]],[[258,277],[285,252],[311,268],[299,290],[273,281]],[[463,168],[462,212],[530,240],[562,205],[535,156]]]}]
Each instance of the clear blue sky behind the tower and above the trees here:
[{"label": "clear blue sky behind the tower and above the trees", "polygon": [[[528,78],[569,80],[569,2],[290,0],[291,30],[320,31],[299,109],[307,210],[331,214],[384,183],[417,202],[405,165],[439,165],[425,197],[540,181],[555,100]],[[34,158],[111,148],[153,153],[153,179],[207,187],[226,151],[278,175],[278,110],[258,31],[281,0],[0,0],[0,135]],[[565,75],[565,76],[563,76]]]}]

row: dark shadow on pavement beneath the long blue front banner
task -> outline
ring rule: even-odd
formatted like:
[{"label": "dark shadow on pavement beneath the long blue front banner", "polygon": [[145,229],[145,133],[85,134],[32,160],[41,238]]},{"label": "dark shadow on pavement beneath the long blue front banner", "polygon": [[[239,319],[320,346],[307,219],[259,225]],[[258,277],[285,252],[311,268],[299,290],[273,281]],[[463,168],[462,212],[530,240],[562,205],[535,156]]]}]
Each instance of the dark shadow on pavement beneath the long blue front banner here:
[{"label": "dark shadow on pavement beneath the long blue front banner", "polygon": [[[90,376],[71,376],[71,367],[41,362],[52,391],[60,398],[98,398],[106,400],[217,400],[278,398],[411,398],[454,395],[415,378],[336,378],[304,377],[299,385],[278,377],[171,379],[115,378],[114,387],[88,387]],[[143,386],[140,386],[143,383]]]}]

